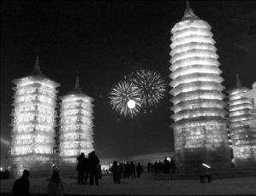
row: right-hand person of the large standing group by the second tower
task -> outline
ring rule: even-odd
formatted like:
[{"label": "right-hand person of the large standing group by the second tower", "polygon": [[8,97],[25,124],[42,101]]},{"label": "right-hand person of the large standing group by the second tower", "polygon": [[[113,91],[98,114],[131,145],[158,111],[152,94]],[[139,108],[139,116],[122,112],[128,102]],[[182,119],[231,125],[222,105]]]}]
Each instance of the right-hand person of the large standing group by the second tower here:
[{"label": "right-hand person of the large standing group by the second tower", "polygon": [[97,175],[98,164],[99,164],[99,159],[96,156],[95,151],[92,151],[92,153],[89,153],[90,185],[93,185],[94,179],[95,179],[95,184],[98,185],[98,175]]}]

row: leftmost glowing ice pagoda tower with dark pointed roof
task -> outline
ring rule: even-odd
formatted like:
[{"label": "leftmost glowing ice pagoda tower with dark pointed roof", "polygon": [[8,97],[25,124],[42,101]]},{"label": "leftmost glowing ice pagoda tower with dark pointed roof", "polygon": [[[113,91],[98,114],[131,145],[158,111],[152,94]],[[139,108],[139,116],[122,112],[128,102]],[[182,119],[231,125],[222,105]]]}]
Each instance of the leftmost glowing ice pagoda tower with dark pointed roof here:
[{"label": "leftmost glowing ice pagoda tower with dark pointed roof", "polygon": [[12,116],[11,170],[20,176],[22,170],[31,175],[51,174],[55,146],[57,87],[40,71],[39,57],[33,73],[12,81],[16,86]]}]

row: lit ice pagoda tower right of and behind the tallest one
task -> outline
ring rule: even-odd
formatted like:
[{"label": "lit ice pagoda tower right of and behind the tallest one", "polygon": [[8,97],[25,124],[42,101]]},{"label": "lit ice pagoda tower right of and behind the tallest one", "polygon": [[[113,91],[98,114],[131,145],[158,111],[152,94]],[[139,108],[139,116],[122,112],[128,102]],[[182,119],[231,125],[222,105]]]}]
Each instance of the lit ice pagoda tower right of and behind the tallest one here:
[{"label": "lit ice pagoda tower right of and behind the tallest one", "polygon": [[249,89],[241,86],[236,75],[236,87],[229,90],[230,135],[236,167],[256,167],[256,127],[253,99],[247,98]]}]

